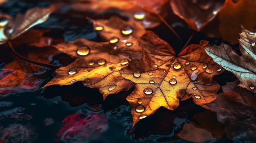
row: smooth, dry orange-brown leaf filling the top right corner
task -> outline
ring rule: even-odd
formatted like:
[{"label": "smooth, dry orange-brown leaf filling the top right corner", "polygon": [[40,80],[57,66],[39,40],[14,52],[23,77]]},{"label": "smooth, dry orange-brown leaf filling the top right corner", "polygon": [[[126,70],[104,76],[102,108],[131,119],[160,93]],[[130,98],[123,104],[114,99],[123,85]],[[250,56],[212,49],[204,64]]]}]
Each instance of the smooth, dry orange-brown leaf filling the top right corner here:
[{"label": "smooth, dry orange-brown leaf filling the top right corner", "polygon": [[246,29],[256,26],[256,2],[253,0],[239,0],[234,3],[226,0],[218,18],[220,19],[219,32],[222,39],[232,44],[238,43],[238,33],[241,31],[240,25]]}]

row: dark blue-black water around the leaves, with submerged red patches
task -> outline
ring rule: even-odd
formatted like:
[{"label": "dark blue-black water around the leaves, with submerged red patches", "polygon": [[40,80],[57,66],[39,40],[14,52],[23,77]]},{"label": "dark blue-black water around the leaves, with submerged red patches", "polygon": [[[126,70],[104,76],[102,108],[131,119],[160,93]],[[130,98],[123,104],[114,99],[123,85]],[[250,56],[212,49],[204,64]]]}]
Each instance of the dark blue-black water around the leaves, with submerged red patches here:
[{"label": "dark blue-black water around the leaves, with submerged red patches", "polygon": [[[10,0],[0,7],[0,12],[15,16],[18,12],[25,13],[35,6],[48,7],[51,2]],[[63,1],[65,2],[68,3]],[[57,31],[57,35],[62,35],[64,41],[73,41],[80,37],[100,41],[99,35],[92,29],[92,22],[85,20],[85,13],[70,9],[69,6],[53,13],[45,23],[34,29]],[[164,40],[174,43],[169,36],[166,36],[164,29],[152,30]],[[183,38],[187,39],[190,33],[191,31],[184,34]],[[195,36],[191,42],[197,41],[198,38],[200,36]],[[220,43],[218,39],[207,40],[210,40],[211,44]],[[176,44],[176,46],[180,45]],[[44,83],[45,81],[41,81],[39,85]],[[190,100],[181,103],[177,111],[161,108],[159,113],[138,123],[134,133],[130,134],[132,117],[128,102],[125,100],[127,93],[110,95],[103,101],[97,90],[86,88],[81,83],[69,87],[54,86],[46,90],[38,90],[38,88],[40,86],[36,90],[2,94],[0,142],[5,139],[10,143],[192,143],[178,139],[174,134],[184,123],[190,122],[193,114],[204,111]],[[184,109],[185,106],[192,107],[193,110]],[[162,118],[170,119],[169,123],[166,125],[155,123],[162,121],[160,120]],[[220,142],[231,141],[222,136],[207,143]]]}]

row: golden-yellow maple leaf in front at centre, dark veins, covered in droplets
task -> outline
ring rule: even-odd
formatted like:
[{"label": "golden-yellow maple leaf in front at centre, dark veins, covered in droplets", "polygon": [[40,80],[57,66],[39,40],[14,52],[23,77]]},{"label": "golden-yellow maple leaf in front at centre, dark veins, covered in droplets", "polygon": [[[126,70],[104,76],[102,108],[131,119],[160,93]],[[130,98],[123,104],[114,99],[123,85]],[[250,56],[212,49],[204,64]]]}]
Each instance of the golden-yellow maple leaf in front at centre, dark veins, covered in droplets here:
[{"label": "golden-yellow maple leaf in front at centre, dark veins, covered in droplets", "polygon": [[[168,45],[153,32],[144,36],[142,39],[150,40],[151,46]],[[199,105],[216,98],[220,86],[211,77],[223,70],[204,52],[207,45],[203,40],[199,45],[191,44],[177,56],[168,45],[168,52],[163,55],[144,53],[141,60],[133,59],[126,68],[119,70],[122,76],[136,83],[135,90],[126,98],[131,106],[132,127],[161,106],[175,110],[179,101],[190,97]]]}]

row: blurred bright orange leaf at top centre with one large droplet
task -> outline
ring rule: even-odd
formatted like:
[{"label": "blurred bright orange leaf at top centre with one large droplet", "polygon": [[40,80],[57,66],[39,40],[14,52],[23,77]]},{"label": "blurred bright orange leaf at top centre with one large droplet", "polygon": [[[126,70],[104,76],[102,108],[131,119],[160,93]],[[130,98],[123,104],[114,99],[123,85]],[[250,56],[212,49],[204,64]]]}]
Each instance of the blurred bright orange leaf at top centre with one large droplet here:
[{"label": "blurred bright orange leaf at top centre with one large droplet", "polygon": [[[161,21],[158,13],[168,0],[79,0],[72,4],[74,9],[106,13],[110,10],[120,11],[120,16],[134,18],[145,28],[153,28]],[[91,15],[90,15],[91,16]]]}]

